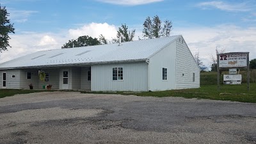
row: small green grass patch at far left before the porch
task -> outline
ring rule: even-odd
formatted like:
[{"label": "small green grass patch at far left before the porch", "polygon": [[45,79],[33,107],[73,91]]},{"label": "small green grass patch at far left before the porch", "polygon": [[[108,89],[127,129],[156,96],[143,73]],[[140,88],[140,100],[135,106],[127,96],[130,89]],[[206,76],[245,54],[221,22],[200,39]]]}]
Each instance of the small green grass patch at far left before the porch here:
[{"label": "small green grass patch at far left before the porch", "polygon": [[0,98],[10,97],[15,94],[26,94],[26,93],[35,93],[35,92],[44,92],[44,90],[0,89]]}]

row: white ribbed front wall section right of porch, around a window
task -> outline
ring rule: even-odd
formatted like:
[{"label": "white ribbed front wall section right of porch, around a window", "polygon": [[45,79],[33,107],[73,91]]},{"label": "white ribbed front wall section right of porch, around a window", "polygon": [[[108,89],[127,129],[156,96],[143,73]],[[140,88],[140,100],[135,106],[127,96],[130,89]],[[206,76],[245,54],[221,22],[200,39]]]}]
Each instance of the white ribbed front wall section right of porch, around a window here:
[{"label": "white ribbed front wall section right of porch, around a window", "polygon": [[[114,67],[124,68],[124,80],[113,81]],[[148,91],[147,63],[120,63],[92,66],[92,91]]]}]

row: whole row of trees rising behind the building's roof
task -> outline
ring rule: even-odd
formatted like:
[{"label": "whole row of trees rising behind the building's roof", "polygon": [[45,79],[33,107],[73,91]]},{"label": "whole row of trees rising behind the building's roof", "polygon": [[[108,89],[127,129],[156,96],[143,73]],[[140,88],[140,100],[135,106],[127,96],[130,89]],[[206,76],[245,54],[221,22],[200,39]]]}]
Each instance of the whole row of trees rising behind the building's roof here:
[{"label": "whole row of trees rising behind the building's roof", "polygon": [[[110,42],[106,40],[103,35],[100,35],[99,38],[92,38],[92,36],[79,36],[76,40],[68,40],[61,48],[70,48],[70,47],[84,47],[89,45],[102,45],[102,44],[112,44],[121,42],[130,42],[134,39],[135,29],[128,29],[126,24],[121,24],[116,31],[116,38],[113,38]],[[147,17],[143,23],[143,38],[160,38],[165,36],[170,36],[172,31],[172,21],[162,20],[158,15],[150,18]],[[140,38],[139,38],[140,39]]]}]

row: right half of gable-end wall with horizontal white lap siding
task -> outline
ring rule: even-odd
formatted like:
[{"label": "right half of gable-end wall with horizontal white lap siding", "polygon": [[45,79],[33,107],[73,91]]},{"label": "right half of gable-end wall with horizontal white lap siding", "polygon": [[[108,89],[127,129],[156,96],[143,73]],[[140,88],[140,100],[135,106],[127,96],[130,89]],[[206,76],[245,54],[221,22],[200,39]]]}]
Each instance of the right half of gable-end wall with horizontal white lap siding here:
[{"label": "right half of gable-end wall with horizontal white lap siding", "polygon": [[[182,37],[180,37],[182,38]],[[189,51],[186,43],[176,41],[176,88],[199,88],[200,87],[200,69],[198,68],[193,55]],[[193,82],[193,72],[195,72],[195,82]],[[184,74],[184,76],[182,76]]]}]

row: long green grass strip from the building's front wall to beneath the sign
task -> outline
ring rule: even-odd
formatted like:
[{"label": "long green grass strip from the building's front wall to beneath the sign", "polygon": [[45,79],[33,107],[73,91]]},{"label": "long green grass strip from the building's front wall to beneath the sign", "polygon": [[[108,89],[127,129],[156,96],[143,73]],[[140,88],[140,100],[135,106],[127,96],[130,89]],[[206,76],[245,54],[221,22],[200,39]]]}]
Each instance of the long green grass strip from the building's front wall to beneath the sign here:
[{"label": "long green grass strip from the building's front wall to beneath the sign", "polygon": [[82,93],[115,93],[121,95],[138,95],[143,97],[184,97],[187,99],[212,99],[212,100],[231,100],[237,102],[256,103],[256,83],[250,84],[250,92],[247,84],[239,85],[220,85],[218,91],[217,84],[202,85],[201,88],[185,90],[166,90],[159,92],[82,92]]}]

